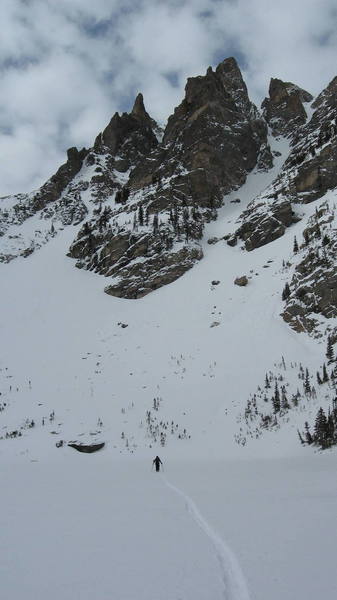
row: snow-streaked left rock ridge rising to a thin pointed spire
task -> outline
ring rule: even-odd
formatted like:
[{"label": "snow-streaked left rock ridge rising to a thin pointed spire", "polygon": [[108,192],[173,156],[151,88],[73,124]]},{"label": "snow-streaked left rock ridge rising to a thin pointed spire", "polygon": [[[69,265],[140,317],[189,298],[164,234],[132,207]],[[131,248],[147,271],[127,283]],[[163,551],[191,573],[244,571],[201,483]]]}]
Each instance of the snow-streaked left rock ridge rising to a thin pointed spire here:
[{"label": "snow-streaked left rock ridge rising to a thin pointed spire", "polygon": [[[61,226],[83,221],[88,213],[84,193],[87,201],[97,204],[121,193],[133,161],[143,158],[158,144],[152,128],[158,126],[138,94],[130,115],[115,115],[90,150],[70,148],[67,162],[37,192],[3,199],[8,208],[0,208],[0,236],[6,237],[10,225],[22,225],[34,215],[39,215],[41,224],[33,241],[31,233],[25,236],[24,231],[15,242],[8,235],[3,240],[0,262],[9,262],[18,255],[29,256],[56,235]],[[127,188],[124,197],[126,191]]]}]

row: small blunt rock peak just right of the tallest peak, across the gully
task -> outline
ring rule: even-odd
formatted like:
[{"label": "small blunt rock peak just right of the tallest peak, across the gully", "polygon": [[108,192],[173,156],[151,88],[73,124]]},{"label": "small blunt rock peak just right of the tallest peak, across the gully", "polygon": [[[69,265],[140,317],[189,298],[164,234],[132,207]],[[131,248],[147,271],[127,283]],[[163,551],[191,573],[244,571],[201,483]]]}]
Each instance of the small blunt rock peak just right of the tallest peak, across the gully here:
[{"label": "small blunt rock peak just right of the tallest peak, across the gully", "polygon": [[312,100],[309,92],[294,83],[271,79],[269,98],[264,99],[261,108],[273,135],[293,136],[307,120],[303,103]]}]

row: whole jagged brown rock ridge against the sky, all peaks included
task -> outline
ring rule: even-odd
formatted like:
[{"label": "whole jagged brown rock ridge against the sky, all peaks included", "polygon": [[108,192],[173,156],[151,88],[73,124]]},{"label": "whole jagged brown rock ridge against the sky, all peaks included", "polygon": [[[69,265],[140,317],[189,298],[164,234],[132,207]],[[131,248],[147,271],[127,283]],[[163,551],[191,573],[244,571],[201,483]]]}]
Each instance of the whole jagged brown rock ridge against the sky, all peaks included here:
[{"label": "whole jagged brown rock ridge against the sky, all peaks included", "polygon": [[[90,149],[71,148],[38,191],[0,204],[0,260],[28,256],[64,226],[82,223],[68,256],[106,278],[106,292],[140,298],[175,281],[203,256],[206,222],[253,169],[268,170],[272,135],[290,143],[274,182],[244,210],[228,243],[254,250],[284,234],[296,205],[337,187],[337,78],[312,104],[290,82],[272,79],[261,114],[234,58],[187,80],[163,135],[138,94],[115,113]],[[269,133],[270,135],[270,133]],[[160,141],[162,140],[162,141]],[[27,225],[38,220],[35,242]],[[28,235],[29,234],[29,235]],[[14,239],[15,238],[15,239]],[[36,241],[38,240],[38,241]]]}]

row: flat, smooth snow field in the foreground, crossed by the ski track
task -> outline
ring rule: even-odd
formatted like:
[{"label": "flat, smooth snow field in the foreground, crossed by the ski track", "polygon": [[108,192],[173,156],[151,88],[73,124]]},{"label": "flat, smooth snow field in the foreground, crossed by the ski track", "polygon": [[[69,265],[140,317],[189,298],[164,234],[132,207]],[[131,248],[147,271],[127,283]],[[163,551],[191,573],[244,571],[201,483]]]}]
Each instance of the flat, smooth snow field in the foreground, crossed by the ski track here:
[{"label": "flat, smooth snow field in the foreground, crossed by the ski track", "polygon": [[70,448],[5,468],[4,597],[334,597],[333,454],[164,468]]}]

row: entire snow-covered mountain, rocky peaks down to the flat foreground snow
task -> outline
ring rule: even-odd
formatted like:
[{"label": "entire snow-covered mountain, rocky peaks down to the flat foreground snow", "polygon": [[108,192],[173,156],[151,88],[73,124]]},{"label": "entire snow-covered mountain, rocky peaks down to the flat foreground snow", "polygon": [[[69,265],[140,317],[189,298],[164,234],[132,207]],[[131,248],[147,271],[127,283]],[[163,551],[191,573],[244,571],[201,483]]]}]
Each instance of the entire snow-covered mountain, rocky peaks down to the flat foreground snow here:
[{"label": "entire snow-covered mountain, rocky peaks down to the flat foreground snow", "polygon": [[0,199],[6,597],[337,591],[335,85],[226,59]]}]

